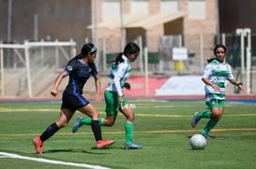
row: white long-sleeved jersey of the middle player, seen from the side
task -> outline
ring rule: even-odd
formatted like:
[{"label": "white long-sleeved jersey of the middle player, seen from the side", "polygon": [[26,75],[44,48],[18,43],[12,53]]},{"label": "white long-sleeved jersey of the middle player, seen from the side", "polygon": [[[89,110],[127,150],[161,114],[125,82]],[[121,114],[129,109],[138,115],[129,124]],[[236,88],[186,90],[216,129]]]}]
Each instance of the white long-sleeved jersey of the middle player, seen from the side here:
[{"label": "white long-sleeved jersey of the middle player, seen from the side", "polygon": [[122,58],[124,62],[115,65],[112,63],[108,71],[109,85],[106,90],[111,92],[117,92],[119,96],[123,95],[123,88],[126,80],[131,73],[131,65],[128,58],[123,54]]}]

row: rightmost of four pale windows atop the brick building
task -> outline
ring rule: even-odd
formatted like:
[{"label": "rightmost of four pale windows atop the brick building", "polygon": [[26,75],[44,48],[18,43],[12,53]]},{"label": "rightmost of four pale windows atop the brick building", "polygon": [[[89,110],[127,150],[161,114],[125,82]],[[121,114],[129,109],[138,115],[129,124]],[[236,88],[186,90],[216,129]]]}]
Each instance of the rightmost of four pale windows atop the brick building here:
[{"label": "rightmost of four pale windows atop the brick building", "polygon": [[188,19],[204,20],[206,18],[205,0],[188,1]]}]

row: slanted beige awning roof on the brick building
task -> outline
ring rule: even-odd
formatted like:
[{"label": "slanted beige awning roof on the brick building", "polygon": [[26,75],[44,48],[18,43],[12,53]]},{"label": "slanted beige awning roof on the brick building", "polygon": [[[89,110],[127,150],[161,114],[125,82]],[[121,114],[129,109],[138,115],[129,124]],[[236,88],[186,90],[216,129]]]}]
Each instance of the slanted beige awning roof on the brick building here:
[{"label": "slanted beige awning roof on the brick building", "polygon": [[[158,13],[155,15],[124,15],[123,26],[125,28],[142,27],[143,29],[149,29],[159,24],[164,24],[169,21],[174,21],[183,18],[187,15],[186,12],[175,12],[175,13]],[[111,21],[102,21],[98,23],[98,28],[115,29],[120,28],[120,17],[115,18]],[[94,29],[95,25],[87,26],[88,29]]]}]

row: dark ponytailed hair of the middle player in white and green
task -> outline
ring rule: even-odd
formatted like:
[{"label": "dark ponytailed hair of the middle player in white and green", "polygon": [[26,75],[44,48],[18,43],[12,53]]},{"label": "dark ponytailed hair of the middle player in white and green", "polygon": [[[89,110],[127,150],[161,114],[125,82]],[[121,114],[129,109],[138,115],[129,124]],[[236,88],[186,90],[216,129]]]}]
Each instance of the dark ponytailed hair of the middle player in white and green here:
[{"label": "dark ponytailed hair of the middle player in white and green", "polygon": [[128,55],[128,54],[135,54],[137,52],[140,51],[140,47],[135,44],[134,42],[129,42],[124,51],[123,52],[120,52],[118,53],[118,55],[114,58],[113,62],[115,65],[117,65],[118,63],[123,63],[124,62],[124,59],[122,58],[122,55]]}]

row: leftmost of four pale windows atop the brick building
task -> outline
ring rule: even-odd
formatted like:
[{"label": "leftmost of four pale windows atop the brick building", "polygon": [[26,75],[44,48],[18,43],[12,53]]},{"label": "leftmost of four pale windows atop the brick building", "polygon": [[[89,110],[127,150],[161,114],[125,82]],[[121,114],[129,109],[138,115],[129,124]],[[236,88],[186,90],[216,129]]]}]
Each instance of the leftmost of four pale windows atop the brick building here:
[{"label": "leftmost of four pale windows atop the brick building", "polygon": [[120,16],[119,0],[103,0],[102,1],[102,20],[108,21]]}]

